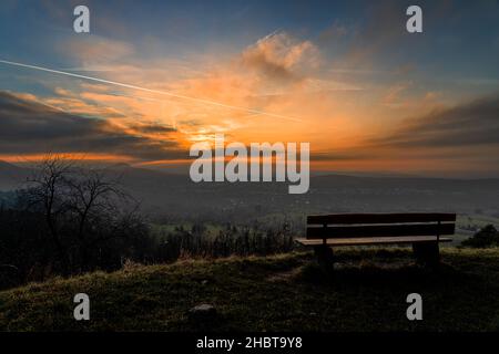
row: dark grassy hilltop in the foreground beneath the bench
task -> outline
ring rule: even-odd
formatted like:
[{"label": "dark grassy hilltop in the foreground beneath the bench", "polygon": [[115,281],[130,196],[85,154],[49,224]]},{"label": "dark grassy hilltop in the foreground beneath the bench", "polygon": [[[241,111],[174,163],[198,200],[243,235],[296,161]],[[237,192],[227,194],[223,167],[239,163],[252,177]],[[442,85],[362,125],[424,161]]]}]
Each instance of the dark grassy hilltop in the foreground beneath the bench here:
[{"label": "dark grassy hilltop in the foreground beneath the bench", "polygon": [[[338,250],[334,278],[307,252],[132,266],[0,292],[2,331],[498,331],[499,250],[442,249],[438,273],[407,249]],[[73,320],[74,294],[91,321]],[[406,319],[407,294],[424,321]],[[191,308],[218,316],[192,320]]]}]

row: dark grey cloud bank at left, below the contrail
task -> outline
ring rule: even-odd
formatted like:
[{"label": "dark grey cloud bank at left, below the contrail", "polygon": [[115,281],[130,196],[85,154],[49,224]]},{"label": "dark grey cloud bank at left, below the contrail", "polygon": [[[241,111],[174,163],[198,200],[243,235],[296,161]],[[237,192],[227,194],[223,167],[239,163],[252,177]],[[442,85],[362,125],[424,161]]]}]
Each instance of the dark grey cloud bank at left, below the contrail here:
[{"label": "dark grey cloud bank at left, below the contrail", "polygon": [[[140,132],[174,132],[160,125],[138,124]],[[130,135],[104,119],[81,117],[0,92],[0,152],[23,155],[100,153],[142,160],[183,158],[174,140]]]}]

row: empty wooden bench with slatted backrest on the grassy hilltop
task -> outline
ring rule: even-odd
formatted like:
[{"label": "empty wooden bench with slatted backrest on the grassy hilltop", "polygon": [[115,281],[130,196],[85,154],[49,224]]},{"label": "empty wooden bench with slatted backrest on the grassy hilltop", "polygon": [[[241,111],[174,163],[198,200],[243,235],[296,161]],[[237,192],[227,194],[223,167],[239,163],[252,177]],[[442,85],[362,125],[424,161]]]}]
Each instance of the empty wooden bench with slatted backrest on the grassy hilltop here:
[{"label": "empty wooden bench with slatted backrest on the grassy hilltop", "polygon": [[333,248],[411,243],[419,263],[436,267],[440,261],[439,242],[451,241],[456,214],[333,214],[307,217],[303,246],[314,247],[319,264],[333,271]]}]

